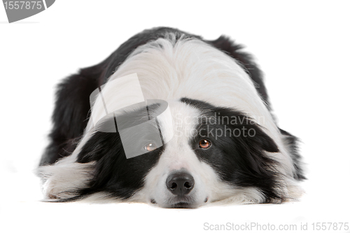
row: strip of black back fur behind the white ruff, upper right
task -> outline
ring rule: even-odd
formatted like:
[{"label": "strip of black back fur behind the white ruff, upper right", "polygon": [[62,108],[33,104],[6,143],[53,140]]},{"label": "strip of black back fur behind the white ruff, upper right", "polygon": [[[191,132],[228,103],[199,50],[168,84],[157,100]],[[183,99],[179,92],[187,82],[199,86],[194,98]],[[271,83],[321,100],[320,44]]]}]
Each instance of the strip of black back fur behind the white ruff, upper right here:
[{"label": "strip of black back fur behind the white ruff, upper right", "polygon": [[255,88],[265,101],[267,106],[269,106],[269,99],[267,95],[267,90],[264,85],[262,78],[262,71],[260,71],[258,65],[254,62],[253,56],[247,52],[243,52],[244,46],[235,43],[235,41],[230,40],[227,36],[220,36],[215,41],[206,41],[207,43],[214,45],[215,48],[225,52],[230,57],[234,58],[238,64],[248,73],[251,79],[255,83]]}]

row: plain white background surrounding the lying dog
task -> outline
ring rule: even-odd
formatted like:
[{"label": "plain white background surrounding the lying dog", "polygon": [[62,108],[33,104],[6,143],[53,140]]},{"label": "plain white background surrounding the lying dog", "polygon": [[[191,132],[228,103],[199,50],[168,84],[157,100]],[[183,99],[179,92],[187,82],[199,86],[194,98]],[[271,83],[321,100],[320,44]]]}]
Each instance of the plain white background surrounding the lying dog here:
[{"label": "plain white background surrounding the lying dog", "polygon": [[[204,223],[310,231],[312,223],[350,222],[349,1],[126,2],[56,1],[12,24],[0,6],[1,232],[207,232]],[[157,26],[225,34],[255,55],[279,126],[302,140],[301,202],[194,210],[39,202],[33,170],[48,143],[55,85]]]}]

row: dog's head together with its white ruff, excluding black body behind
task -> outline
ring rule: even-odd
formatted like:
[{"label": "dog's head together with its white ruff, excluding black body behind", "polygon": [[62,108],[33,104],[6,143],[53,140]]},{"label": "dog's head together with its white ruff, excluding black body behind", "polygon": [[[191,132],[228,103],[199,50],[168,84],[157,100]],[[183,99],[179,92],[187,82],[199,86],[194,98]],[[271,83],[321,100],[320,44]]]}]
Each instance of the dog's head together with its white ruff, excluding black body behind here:
[{"label": "dog's head together with its white ruff, excluding black body behind", "polygon": [[[120,111],[94,128],[92,118],[106,107],[95,104],[73,153],[39,169],[46,197],[195,208],[300,195],[290,138],[234,59],[198,39],[168,35],[134,50],[104,90],[130,73],[139,75],[145,99],[167,102],[168,114],[158,117],[164,109],[155,102],[147,111]],[[125,101],[109,89],[112,105]],[[111,126],[114,132],[103,130]]]}]

